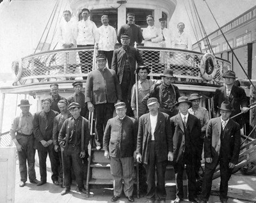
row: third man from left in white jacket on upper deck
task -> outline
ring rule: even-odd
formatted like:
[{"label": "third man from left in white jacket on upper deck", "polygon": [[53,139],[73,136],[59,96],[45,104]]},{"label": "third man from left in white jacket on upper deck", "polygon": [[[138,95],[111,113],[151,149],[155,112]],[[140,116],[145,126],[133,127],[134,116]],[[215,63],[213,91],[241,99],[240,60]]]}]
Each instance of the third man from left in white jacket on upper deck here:
[{"label": "third man from left in white jacket on upper deck", "polygon": [[97,45],[99,48],[98,54],[104,54],[108,59],[108,68],[111,68],[113,52],[116,45],[116,30],[114,27],[109,26],[108,15],[102,15],[102,26],[98,28],[99,41]]}]

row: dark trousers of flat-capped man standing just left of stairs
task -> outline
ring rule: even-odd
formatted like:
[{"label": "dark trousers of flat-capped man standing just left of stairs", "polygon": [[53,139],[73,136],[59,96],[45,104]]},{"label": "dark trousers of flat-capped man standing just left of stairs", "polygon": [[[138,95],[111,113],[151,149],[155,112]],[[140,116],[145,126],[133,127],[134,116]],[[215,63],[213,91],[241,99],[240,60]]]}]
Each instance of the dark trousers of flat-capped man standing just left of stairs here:
[{"label": "dark trousers of flat-capped man standing just left of stairs", "polygon": [[84,188],[83,183],[83,158],[80,158],[80,146],[68,145],[63,151],[63,173],[64,186],[70,189],[72,184],[71,167],[73,167],[76,176],[76,183],[79,189]]}]

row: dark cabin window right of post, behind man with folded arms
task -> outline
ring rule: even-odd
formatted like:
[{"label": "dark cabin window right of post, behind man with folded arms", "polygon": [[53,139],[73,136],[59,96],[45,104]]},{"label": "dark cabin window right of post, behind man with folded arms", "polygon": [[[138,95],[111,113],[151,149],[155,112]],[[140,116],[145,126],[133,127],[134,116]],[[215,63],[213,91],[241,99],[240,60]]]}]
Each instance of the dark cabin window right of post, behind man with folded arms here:
[{"label": "dark cabin window right of post, behind man with folded arms", "polygon": [[[153,10],[149,9],[141,9],[141,8],[127,8],[126,13],[134,13],[135,14],[135,24],[140,26],[141,28],[147,27],[147,20],[146,17],[148,15],[153,15]],[[158,19],[155,19],[155,22],[157,22]]]}]

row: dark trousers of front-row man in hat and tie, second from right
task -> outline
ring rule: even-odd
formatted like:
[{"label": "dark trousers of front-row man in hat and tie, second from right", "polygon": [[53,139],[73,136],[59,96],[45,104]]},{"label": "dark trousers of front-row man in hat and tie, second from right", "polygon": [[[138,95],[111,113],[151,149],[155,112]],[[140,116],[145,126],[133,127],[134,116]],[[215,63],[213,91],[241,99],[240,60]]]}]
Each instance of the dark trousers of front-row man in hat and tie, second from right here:
[{"label": "dark trousers of front-row man in hat and tie, second from right", "polygon": [[[184,162],[183,160],[178,161],[173,165],[175,172],[176,181],[176,197],[179,199],[184,198],[183,192],[183,172],[184,172]],[[196,173],[195,165],[186,165],[186,172],[188,177],[188,199],[195,199],[196,195]]]}]

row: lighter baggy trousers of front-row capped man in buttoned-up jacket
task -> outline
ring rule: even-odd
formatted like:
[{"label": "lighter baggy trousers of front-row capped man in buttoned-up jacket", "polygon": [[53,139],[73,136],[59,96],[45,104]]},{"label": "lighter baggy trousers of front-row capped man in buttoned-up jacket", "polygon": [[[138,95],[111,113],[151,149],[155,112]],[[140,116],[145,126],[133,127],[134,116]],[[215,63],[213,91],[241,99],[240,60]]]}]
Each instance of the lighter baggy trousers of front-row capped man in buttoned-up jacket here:
[{"label": "lighter baggy trousers of front-row capped man in buttoned-up jacket", "polygon": [[114,195],[120,197],[122,193],[122,180],[124,181],[124,194],[126,197],[133,193],[134,159],[132,156],[124,158],[110,157],[110,169],[113,176]]}]

